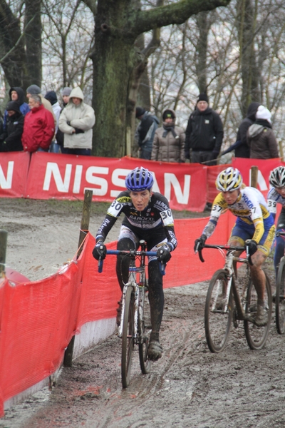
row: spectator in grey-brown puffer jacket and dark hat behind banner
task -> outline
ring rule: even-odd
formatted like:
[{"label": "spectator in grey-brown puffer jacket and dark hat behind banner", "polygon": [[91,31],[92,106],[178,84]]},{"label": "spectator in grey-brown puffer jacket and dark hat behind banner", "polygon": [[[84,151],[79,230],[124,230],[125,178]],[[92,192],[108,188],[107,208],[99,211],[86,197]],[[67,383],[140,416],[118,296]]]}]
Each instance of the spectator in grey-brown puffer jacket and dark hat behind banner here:
[{"label": "spectator in grey-brown puffer jacket and dark hat behind banner", "polygon": [[185,162],[185,133],[175,125],[175,111],[168,108],[162,113],[162,127],[155,131],[152,161]]}]

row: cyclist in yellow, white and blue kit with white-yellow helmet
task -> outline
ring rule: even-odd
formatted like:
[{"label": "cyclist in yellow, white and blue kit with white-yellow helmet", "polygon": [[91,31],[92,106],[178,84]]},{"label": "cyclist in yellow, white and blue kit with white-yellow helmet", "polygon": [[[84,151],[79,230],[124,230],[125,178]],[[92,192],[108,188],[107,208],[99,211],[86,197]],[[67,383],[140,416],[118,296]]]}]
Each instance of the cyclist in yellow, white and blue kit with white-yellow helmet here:
[{"label": "cyclist in yellow, white and blue kit with white-yellow helmet", "polygon": [[[214,199],[209,222],[200,238],[195,240],[195,251],[202,249],[212,235],[222,211],[229,209],[237,216],[237,221],[229,237],[229,245],[249,244],[249,255],[252,256],[250,270],[254,287],[257,290],[258,306],[256,323],[266,325],[264,291],[266,278],[261,269],[264,260],[271,252],[274,243],[274,218],[269,212],[264,196],[256,188],[242,183],[242,175],[236,168],[229,167],[217,176],[216,187],[220,193]],[[239,252],[240,253],[240,252]]]}]

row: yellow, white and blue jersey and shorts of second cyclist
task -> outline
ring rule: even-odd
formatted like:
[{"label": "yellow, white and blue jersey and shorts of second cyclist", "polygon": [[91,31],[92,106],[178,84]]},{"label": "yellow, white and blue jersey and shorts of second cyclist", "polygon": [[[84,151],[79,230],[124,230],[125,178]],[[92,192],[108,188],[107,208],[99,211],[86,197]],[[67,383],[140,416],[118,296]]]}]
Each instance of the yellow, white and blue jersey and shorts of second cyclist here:
[{"label": "yellow, white and blue jersey and shorts of second cyclist", "polygon": [[274,218],[262,193],[252,187],[241,188],[236,202],[232,205],[228,205],[222,192],[219,193],[214,198],[209,222],[203,230],[207,238],[214,232],[221,213],[227,209],[237,217],[231,237],[240,238],[241,243],[246,239],[254,239],[261,246],[266,243],[264,253],[269,253],[274,240],[275,226]]}]

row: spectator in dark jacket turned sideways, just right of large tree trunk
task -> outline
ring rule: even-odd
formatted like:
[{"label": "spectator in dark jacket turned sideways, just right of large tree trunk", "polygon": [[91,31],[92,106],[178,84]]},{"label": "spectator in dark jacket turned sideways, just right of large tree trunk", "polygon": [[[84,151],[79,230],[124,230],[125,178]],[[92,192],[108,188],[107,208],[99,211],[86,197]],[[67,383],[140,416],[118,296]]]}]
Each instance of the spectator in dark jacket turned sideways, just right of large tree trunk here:
[{"label": "spectator in dark jacket turned sideways, just right of large tree trunk", "polygon": [[160,121],[145,108],[137,107],[135,117],[140,121],[135,130],[135,145],[139,146],[140,159],[150,159],[152,153],[152,143],[155,137],[155,131]]}]

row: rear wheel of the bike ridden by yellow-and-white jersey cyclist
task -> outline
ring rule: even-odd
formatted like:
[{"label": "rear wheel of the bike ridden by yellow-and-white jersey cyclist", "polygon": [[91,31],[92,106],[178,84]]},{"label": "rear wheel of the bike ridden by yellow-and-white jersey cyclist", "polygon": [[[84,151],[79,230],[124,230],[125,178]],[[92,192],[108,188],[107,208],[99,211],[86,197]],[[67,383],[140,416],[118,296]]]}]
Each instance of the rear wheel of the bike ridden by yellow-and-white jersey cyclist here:
[{"label": "rear wheel of the bike ridden by yellow-and-white jersey cyclist", "polygon": [[[247,337],[247,343],[249,344],[251,350],[261,350],[261,348],[264,347],[269,334],[272,312],[272,297],[271,286],[267,276],[264,301],[267,312],[267,324],[263,327],[257,327],[257,325],[255,325],[253,322],[244,321],[244,332],[245,336]],[[247,304],[245,312],[253,318],[257,316],[257,290],[255,290],[252,279],[249,280],[249,287],[247,289]]]}]

